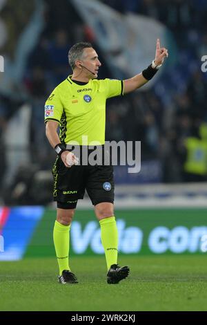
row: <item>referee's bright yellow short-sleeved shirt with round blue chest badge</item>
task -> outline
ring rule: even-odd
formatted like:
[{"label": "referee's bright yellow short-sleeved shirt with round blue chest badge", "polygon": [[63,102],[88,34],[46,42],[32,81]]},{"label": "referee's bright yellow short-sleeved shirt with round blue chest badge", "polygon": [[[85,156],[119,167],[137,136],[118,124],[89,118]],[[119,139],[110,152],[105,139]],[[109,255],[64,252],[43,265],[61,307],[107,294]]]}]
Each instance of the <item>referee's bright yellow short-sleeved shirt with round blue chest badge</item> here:
[{"label": "referee's bright yellow short-sleeved shirt with round blue chest badge", "polygon": [[[60,124],[60,140],[68,145],[105,142],[106,100],[123,95],[121,80],[90,80],[76,84],[69,76],[61,82],[45,105],[45,122]],[[95,143],[94,143],[95,145]]]}]

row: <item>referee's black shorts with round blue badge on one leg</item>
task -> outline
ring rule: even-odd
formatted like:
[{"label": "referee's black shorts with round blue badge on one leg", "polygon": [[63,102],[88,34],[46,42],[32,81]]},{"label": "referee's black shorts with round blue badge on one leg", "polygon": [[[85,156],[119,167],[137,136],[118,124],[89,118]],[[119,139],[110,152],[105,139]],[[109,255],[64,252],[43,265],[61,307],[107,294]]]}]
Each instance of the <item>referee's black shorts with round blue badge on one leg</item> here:
[{"label": "referee's black shorts with round blue badge on one leg", "polygon": [[75,209],[85,189],[93,205],[114,202],[115,184],[112,165],[83,166],[68,168],[57,157],[52,168],[54,178],[53,198],[61,209]]}]

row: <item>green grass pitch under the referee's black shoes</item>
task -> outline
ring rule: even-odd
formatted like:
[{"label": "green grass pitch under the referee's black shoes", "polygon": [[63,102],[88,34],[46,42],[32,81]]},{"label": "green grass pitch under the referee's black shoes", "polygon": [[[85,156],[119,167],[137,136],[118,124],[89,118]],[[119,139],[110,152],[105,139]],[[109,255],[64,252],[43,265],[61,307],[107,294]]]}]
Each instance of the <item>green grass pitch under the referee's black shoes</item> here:
[{"label": "green grass pitch under the referee's black shoes", "polygon": [[120,256],[130,276],[106,284],[101,257],[72,257],[79,284],[57,282],[56,259],[0,262],[0,310],[207,310],[205,255]]}]

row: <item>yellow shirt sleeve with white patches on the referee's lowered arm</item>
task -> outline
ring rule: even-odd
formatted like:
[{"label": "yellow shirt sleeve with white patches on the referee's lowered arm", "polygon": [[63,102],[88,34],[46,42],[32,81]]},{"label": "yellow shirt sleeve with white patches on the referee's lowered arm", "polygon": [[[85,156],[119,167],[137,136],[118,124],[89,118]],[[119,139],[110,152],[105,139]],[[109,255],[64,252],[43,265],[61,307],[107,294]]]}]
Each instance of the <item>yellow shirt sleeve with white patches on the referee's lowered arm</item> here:
[{"label": "yellow shirt sleeve with white patches on the referee's lowered arm", "polygon": [[54,91],[52,91],[52,93],[48,97],[48,100],[46,100],[45,123],[48,122],[48,120],[60,122],[62,113],[63,105],[61,104],[59,91],[56,88]]}]

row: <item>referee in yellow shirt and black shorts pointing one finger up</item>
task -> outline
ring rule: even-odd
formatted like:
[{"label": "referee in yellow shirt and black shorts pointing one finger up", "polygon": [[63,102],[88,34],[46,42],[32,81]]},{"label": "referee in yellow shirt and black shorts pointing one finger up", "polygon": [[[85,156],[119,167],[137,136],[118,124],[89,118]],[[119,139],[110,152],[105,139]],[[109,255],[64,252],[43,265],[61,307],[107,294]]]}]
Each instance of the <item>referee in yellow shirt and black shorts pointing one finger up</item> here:
[{"label": "referee in yellow shirt and black shorts pointing one finger up", "polygon": [[[108,284],[118,284],[128,277],[128,266],[117,264],[118,233],[114,214],[114,180],[112,165],[83,165],[66,145],[88,145],[105,142],[106,100],[135,91],[150,80],[168,57],[160,48],[155,59],[142,73],[128,80],[97,80],[101,62],[90,43],[77,43],[68,53],[72,75],[61,82],[48,97],[45,106],[46,136],[57,153],[52,169],[54,200],[57,201],[57,220],[53,239],[59,264],[59,283],[77,284],[69,266],[70,224],[79,198],[85,189],[101,227],[101,243],[107,263]],[[59,128],[59,131],[58,131]],[[88,142],[84,141],[83,136]]]}]

